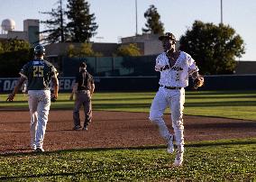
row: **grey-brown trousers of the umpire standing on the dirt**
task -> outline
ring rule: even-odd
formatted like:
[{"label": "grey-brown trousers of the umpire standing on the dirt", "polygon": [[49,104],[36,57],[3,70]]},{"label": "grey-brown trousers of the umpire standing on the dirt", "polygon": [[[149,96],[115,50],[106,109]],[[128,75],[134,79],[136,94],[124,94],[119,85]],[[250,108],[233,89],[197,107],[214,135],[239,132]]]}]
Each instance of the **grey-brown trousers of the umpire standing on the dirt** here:
[{"label": "grey-brown trousers of the umpire standing on the dirt", "polygon": [[75,106],[73,110],[73,120],[75,126],[80,126],[79,110],[81,106],[84,106],[85,123],[84,127],[87,127],[92,121],[92,103],[89,90],[80,90],[76,93]]}]

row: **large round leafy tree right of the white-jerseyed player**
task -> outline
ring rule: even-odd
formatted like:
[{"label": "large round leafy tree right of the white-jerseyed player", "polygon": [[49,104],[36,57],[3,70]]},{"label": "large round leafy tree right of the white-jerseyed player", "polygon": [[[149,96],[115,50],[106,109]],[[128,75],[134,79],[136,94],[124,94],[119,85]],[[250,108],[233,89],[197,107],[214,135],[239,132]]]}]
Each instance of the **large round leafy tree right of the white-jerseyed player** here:
[{"label": "large round leafy tree right of the white-jerseyed player", "polygon": [[192,29],[179,40],[180,50],[197,61],[203,74],[230,74],[236,67],[235,58],[244,51],[242,37],[232,27],[220,23],[195,21]]}]

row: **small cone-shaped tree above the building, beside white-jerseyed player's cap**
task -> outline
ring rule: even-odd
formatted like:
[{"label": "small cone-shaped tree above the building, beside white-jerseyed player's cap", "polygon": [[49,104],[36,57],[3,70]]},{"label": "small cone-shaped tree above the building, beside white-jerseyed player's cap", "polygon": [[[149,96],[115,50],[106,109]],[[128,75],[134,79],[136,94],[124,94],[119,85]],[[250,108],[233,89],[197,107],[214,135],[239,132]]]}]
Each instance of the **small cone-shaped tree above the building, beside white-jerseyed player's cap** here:
[{"label": "small cone-shaped tree above the building, beside white-jerseyed player's cap", "polygon": [[163,34],[163,23],[160,22],[160,14],[157,12],[157,8],[154,5],[151,5],[144,13],[144,17],[147,19],[147,23],[145,24],[146,28],[142,28],[142,32]]}]

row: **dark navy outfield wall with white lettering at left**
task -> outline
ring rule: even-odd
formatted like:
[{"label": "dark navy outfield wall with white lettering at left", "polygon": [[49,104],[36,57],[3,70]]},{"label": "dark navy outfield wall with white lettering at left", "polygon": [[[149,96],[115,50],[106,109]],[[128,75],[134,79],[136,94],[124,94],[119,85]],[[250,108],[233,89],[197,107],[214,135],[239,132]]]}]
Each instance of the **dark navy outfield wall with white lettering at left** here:
[{"label": "dark navy outfield wall with white lettering at left", "polygon": [[[0,78],[0,93],[11,92],[17,77]],[[95,77],[96,91],[155,91],[159,77]],[[191,89],[191,78],[187,90]],[[59,92],[70,92],[75,77],[59,77]],[[256,75],[205,76],[200,90],[256,90]]]}]

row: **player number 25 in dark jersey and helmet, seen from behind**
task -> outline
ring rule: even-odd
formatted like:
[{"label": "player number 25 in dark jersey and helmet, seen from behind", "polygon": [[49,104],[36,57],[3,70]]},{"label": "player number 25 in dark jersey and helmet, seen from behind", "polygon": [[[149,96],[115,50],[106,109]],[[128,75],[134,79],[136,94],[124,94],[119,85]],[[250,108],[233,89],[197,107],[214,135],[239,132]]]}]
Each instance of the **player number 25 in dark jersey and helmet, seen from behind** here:
[{"label": "player number 25 in dark jersey and helmet, seen from behind", "polygon": [[43,59],[45,49],[41,45],[34,48],[35,59],[25,64],[20,72],[21,77],[14,86],[14,91],[6,101],[12,102],[15,94],[27,80],[28,103],[31,114],[31,147],[36,151],[42,148],[48,114],[50,111],[50,79],[53,84],[53,94],[58,97],[59,82],[57,70],[50,62]]}]

